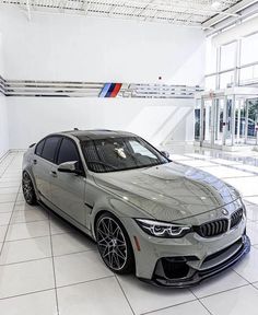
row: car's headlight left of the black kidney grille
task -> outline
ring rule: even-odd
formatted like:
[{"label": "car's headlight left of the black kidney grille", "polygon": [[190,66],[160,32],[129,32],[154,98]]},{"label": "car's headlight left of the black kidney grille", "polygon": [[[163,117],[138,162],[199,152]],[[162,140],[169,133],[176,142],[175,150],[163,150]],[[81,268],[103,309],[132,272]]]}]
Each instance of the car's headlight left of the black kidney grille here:
[{"label": "car's headlight left of the black kidney grille", "polygon": [[164,238],[178,238],[190,232],[191,228],[148,219],[136,219],[138,225],[148,234]]}]

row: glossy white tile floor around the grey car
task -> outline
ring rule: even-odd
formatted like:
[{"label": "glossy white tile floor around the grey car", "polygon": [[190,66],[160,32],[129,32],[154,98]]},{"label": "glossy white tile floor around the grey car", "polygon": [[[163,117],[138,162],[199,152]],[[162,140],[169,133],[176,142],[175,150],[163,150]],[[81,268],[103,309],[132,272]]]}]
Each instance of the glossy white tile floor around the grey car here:
[{"label": "glossy white tile floor around the grey car", "polygon": [[[174,151],[174,150],[173,150]],[[165,290],[117,277],[95,244],[21,194],[22,153],[0,162],[0,314],[258,314],[258,154],[194,150],[172,159],[236,186],[247,206],[250,254],[199,287]]]}]

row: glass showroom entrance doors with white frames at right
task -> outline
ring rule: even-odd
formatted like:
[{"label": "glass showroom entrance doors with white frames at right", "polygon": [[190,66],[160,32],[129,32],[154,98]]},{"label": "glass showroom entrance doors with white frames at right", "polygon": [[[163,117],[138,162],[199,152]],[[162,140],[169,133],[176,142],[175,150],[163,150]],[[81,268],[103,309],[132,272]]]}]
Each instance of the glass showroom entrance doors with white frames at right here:
[{"label": "glass showroom entrance doors with white frames at right", "polygon": [[233,150],[257,145],[257,129],[258,89],[228,88],[196,97],[195,141],[200,147]]}]

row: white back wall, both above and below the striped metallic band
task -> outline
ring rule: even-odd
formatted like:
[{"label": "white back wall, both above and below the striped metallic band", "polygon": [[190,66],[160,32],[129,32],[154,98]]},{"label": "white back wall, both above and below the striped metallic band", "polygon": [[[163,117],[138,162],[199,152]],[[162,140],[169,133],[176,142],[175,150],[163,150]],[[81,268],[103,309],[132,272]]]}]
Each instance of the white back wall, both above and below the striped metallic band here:
[{"label": "white back wall, both above and below the striped metallic band", "polygon": [[[202,84],[202,31],[64,14],[0,10],[5,78]],[[162,75],[162,81],[159,81]],[[130,130],[154,144],[194,138],[192,100],[8,97],[10,148],[79,128]]]}]

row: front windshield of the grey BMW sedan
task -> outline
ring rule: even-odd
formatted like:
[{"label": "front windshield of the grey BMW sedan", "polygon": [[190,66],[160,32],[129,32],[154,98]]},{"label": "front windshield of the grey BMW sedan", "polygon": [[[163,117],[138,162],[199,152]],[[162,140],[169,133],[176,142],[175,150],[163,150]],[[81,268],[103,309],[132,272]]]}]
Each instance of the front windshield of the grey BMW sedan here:
[{"label": "front windshield of the grey BMW sedan", "polygon": [[107,138],[82,142],[90,171],[106,173],[168,163],[157,150],[138,137]]}]

